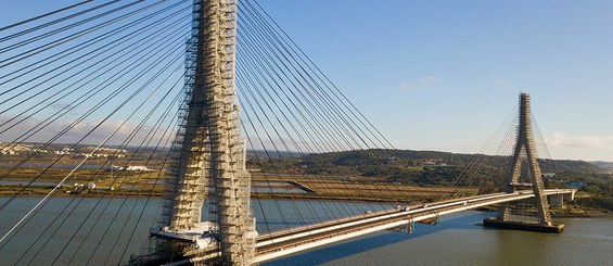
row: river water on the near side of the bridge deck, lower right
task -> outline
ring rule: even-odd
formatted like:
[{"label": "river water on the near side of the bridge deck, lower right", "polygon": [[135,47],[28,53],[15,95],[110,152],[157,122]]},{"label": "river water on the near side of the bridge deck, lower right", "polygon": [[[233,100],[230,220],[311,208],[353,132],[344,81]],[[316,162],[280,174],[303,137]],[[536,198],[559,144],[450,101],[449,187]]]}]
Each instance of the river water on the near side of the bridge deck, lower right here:
[{"label": "river water on the near side of the bridge deck, lower right", "polygon": [[378,232],[264,265],[611,265],[613,217],[555,219],[565,231],[548,235],[483,228],[493,215],[444,216],[412,235]]}]

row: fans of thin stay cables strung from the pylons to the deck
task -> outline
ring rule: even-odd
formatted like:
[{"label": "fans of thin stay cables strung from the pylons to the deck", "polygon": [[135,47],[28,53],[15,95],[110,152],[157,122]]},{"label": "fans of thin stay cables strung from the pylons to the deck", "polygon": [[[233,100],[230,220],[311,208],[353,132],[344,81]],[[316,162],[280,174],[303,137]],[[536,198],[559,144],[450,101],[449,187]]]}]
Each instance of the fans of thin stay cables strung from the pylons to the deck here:
[{"label": "fans of thin stay cables strung from the pylons to the deck", "polygon": [[[151,248],[189,99],[192,9],[81,1],[0,28],[0,181],[22,183],[0,198],[9,264],[119,264]],[[235,87],[260,236],[474,194],[483,180],[501,187],[490,165],[508,163],[515,111],[450,188],[361,176],[360,164],[391,160],[394,147],[255,0],[238,14]],[[322,157],[339,162],[311,170]]]}]

